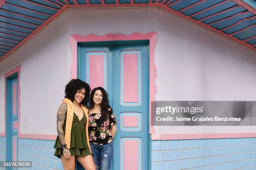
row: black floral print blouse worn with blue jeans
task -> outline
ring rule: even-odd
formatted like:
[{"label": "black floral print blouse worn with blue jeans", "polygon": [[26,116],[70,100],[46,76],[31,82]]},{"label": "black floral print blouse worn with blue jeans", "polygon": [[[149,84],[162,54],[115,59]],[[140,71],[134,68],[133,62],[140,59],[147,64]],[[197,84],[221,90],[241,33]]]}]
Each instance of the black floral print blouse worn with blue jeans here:
[{"label": "black floral print blouse worn with blue jeans", "polygon": [[89,113],[89,142],[95,145],[104,145],[113,141],[111,125],[117,125],[112,110],[108,111],[109,120],[105,120],[100,113]]}]

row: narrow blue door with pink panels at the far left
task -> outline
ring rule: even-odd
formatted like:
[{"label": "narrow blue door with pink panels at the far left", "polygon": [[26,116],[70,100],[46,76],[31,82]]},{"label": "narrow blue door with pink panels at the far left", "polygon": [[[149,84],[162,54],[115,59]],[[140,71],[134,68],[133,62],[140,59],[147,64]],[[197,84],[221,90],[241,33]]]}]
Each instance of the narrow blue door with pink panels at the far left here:
[{"label": "narrow blue door with pink panels at the far left", "polygon": [[18,77],[6,79],[6,160],[18,161]]}]

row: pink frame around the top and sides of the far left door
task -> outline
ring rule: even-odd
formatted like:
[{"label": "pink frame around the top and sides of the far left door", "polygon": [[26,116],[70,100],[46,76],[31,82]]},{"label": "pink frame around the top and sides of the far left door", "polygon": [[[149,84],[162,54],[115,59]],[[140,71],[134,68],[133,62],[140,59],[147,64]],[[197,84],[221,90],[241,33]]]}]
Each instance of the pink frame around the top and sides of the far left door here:
[{"label": "pink frame around the top and sides of the far left door", "polygon": [[15,72],[18,72],[18,135],[20,133],[19,131],[19,123],[20,123],[20,65],[16,67],[13,70],[10,70],[9,72],[5,73],[5,136],[6,136],[6,78],[10,75],[14,74]]}]

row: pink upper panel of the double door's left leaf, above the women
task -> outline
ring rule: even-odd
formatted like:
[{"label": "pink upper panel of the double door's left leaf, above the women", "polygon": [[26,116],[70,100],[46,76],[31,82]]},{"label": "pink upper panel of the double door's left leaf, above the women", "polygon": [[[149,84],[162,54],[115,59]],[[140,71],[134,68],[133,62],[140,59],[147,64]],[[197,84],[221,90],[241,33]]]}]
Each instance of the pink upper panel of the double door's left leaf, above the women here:
[{"label": "pink upper panel of the double door's left leaf, above the women", "polygon": [[90,55],[90,86],[104,87],[103,55]]}]

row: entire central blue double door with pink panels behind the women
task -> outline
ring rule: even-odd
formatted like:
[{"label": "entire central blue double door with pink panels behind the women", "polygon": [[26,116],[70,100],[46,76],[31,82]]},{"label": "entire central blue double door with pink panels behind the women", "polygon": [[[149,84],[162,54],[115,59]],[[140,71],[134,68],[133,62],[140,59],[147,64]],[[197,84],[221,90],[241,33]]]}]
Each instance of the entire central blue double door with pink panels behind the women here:
[{"label": "entire central blue double door with pink panels behind the women", "polygon": [[108,91],[118,120],[112,169],[148,170],[148,44],[118,44],[80,45],[78,77]]}]

